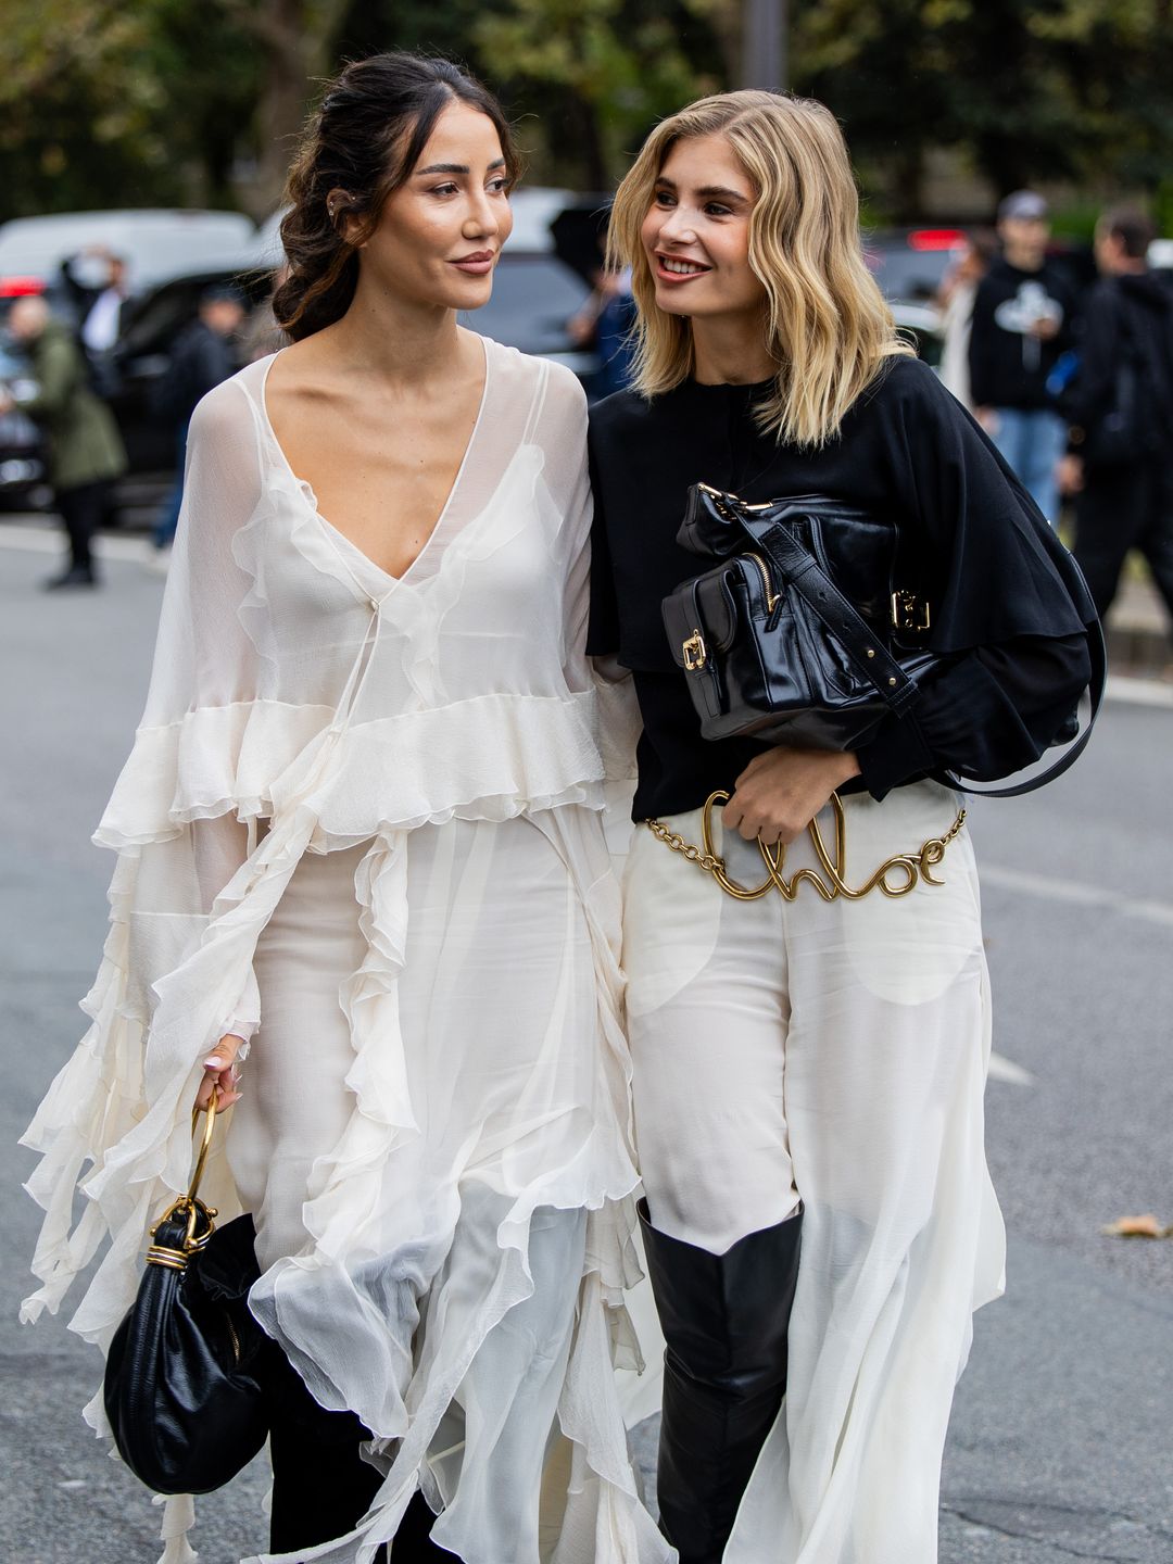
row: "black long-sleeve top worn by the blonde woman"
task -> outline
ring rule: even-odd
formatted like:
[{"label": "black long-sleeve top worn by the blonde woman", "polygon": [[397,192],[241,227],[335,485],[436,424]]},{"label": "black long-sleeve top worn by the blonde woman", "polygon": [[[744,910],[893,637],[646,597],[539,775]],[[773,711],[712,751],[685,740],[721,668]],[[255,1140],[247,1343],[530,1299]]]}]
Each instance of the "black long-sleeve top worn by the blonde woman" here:
[{"label": "black long-sleeve top worn by the blonde woman", "polygon": [[[635,820],[673,815],[732,787],[757,740],[707,740],[660,618],[704,561],[676,541],[691,483],[751,502],[829,494],[901,529],[924,551],[931,649],[940,668],[915,710],[885,718],[859,751],[876,798],[940,769],[1009,776],[1056,741],[1090,676],[1095,610],[1067,549],[985,435],[923,363],[893,358],[823,450],[763,436],[760,386],[685,382],[591,410],[594,485],[588,651],[618,655],[643,715]],[[851,790],[851,784],[848,790]]]}]

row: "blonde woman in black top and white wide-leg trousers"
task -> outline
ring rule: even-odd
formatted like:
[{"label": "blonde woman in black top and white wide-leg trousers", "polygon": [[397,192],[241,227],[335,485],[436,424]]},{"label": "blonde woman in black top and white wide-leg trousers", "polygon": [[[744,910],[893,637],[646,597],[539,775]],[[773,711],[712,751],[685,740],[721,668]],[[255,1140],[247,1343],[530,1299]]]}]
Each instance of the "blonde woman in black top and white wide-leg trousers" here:
[{"label": "blonde woman in black top and white wide-leg trousers", "polygon": [[[682,1564],[935,1558],[952,1387],[971,1312],[1003,1286],[978,877],[956,829],[942,884],[826,899],[807,827],[834,843],[838,793],[860,888],[949,837],[959,801],[934,776],[1037,759],[1089,680],[1078,572],[896,336],[857,219],[835,119],[763,92],[665,120],[612,219],[638,352],[633,388],[591,416],[590,647],[633,674],[633,815],[660,823],[633,840],[624,967],[668,1342],[660,1516]],[[660,616],[698,574],[676,543],[696,482],[899,524],[935,657],[912,715],[852,754],[701,737]],[[701,846],[716,790],[726,877],[757,887],[760,845],[785,843],[793,899],[735,899],[669,851]]]}]

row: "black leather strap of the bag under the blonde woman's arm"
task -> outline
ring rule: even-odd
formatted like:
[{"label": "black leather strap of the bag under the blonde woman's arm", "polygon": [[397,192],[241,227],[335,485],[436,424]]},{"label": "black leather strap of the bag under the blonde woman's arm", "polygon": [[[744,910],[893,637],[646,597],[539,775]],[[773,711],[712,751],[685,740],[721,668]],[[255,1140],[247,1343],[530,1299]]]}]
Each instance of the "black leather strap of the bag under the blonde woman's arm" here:
[{"label": "black leather strap of the bag under the blonde woman's arm", "polygon": [[[917,683],[901,668],[901,665],[877,643],[876,635],[868,629],[856,608],[835,586],[830,577],[818,565],[818,560],[801,543],[795,532],[779,521],[765,529],[752,510],[738,505],[738,521],[754,543],[766,551],[773,563],[782,572],[784,580],[801,593],[810,608],[837,637],[843,649],[852,657],[860,669],[871,679],[876,690],[891,707],[893,715],[902,716],[917,699]],[[1054,782],[1064,771],[1068,771],[1087,749],[1092,729],[1099,716],[1104,702],[1104,685],[1107,683],[1107,647],[1099,622],[1089,626],[1089,652],[1092,657],[1092,679],[1089,690],[1092,694],[1092,712],[1084,730],[1067,746],[1064,754],[1038,776],[1017,782],[1013,787],[982,788],[971,787],[954,771],[942,771],[940,780],[959,793],[971,793],[974,798],[1021,798],[1023,793],[1034,793],[1046,782]]]}]

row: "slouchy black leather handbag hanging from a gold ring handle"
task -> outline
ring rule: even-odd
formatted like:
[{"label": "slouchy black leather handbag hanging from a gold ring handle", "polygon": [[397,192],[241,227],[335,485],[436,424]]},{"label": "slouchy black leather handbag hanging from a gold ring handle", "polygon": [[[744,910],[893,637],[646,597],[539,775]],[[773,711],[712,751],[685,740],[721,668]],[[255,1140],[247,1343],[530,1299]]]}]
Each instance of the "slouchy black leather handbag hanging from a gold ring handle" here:
[{"label": "slouchy black leather handbag hanging from a gold ring handle", "polygon": [[208,1107],[191,1187],[152,1228],[138,1297],[106,1359],[119,1455],[156,1494],[208,1494],[264,1444],[266,1362],[280,1350],[249,1312],[260,1276],[252,1217],[216,1228],[199,1198],[216,1123]]}]

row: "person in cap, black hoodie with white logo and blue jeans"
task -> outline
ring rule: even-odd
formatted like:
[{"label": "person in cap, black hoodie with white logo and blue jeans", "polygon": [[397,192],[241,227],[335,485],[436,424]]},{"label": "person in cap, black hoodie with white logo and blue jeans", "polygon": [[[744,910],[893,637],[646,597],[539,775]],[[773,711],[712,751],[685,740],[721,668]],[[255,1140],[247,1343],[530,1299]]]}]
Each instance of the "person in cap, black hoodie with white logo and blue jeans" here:
[{"label": "person in cap, black hoodie with white logo and blue jeans", "polygon": [[1071,346],[1074,292],[1046,258],[1046,202],[1015,191],[998,208],[1001,256],[978,285],[970,328],[970,394],[978,421],[1051,522],[1065,424],[1046,378]]}]

